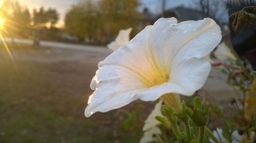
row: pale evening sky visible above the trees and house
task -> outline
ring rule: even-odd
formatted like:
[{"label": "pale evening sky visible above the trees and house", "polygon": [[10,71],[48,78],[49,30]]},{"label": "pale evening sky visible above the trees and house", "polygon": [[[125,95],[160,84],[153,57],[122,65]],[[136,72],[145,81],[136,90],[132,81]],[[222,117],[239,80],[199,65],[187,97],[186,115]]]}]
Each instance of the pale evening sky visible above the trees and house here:
[{"label": "pale evening sky visible above the trees and house", "polygon": [[[2,1],[2,0],[0,0]],[[21,5],[26,6],[32,12],[34,8],[38,9],[41,6],[48,8],[56,8],[60,13],[60,20],[58,22],[59,26],[64,25],[65,14],[68,9],[73,5],[77,4],[81,0],[17,0]],[[93,0],[98,1],[98,0]],[[121,0],[120,0],[121,1]],[[150,9],[153,13],[161,12],[161,6],[163,0],[139,0],[141,6],[139,10],[144,7]],[[183,5],[184,7],[195,8],[196,2],[198,0],[166,0],[166,9],[175,8],[177,6]]]}]

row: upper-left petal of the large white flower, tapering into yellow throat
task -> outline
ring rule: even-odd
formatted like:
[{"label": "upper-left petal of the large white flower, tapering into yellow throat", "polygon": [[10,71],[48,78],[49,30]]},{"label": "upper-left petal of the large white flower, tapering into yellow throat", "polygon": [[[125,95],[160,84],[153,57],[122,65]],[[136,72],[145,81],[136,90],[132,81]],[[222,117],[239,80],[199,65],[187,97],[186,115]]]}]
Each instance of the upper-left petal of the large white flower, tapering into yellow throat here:
[{"label": "upper-left petal of the large white flower, tapering into yellow throat", "polygon": [[[104,61],[100,62],[98,67],[107,65],[118,65],[130,69],[140,75],[143,82],[151,84],[152,79],[160,77],[148,45],[148,37],[152,26],[146,26],[134,39],[125,44],[122,48],[114,51]],[[157,73],[156,75],[154,75]]]}]

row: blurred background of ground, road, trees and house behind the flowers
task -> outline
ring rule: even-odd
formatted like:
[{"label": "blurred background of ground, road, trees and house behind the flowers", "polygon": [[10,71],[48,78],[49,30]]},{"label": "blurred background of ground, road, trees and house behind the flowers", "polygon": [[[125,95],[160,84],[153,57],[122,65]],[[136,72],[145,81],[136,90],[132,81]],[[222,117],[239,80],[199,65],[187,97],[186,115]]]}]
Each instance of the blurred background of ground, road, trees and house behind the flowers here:
[{"label": "blurred background of ground, road, trees and house behind the flowers", "polygon": [[[226,45],[256,65],[255,20],[236,15],[255,0],[0,0],[0,142],[138,142],[154,102],[83,115],[97,64],[119,30],[131,38],[160,17],[210,17]],[[245,10],[245,9],[243,9]],[[255,10],[247,10],[255,15]],[[233,95],[212,70],[201,94]],[[200,92],[199,92],[200,93]]]}]

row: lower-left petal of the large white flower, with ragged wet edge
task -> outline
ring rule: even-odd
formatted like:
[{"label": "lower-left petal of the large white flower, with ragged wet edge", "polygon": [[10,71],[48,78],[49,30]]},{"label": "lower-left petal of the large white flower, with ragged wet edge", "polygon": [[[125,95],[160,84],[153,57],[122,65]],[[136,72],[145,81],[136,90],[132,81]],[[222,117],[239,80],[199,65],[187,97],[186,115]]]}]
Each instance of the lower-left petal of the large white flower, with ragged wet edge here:
[{"label": "lower-left petal of the large white flower, with ragged wet edge", "polygon": [[84,111],[86,117],[100,111],[120,108],[136,99],[134,90],[143,89],[144,84],[137,73],[121,66],[103,66],[94,76],[91,88],[95,90]]}]

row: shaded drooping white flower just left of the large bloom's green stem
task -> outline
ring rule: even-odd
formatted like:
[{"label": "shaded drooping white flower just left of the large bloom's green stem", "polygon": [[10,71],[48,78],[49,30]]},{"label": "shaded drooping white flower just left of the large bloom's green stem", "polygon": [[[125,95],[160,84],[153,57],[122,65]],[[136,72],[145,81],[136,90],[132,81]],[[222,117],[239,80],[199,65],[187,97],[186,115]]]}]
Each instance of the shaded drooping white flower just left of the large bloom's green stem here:
[{"label": "shaded drooping white flower just left of the large bloom's green stem", "polygon": [[157,116],[163,117],[161,113],[162,101],[160,100],[156,105],[151,114],[147,117],[145,121],[145,125],[143,127],[143,131],[150,130],[151,128],[156,127],[161,124],[158,120],[156,120]]}]

